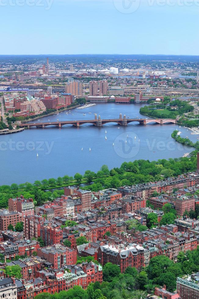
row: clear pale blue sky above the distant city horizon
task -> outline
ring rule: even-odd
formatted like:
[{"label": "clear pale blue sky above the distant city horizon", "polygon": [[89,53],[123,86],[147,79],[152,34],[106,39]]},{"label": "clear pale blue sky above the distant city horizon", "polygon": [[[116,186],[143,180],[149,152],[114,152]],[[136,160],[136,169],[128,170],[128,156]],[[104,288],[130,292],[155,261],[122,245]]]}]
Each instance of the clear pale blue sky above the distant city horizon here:
[{"label": "clear pale blue sky above the distant city horizon", "polygon": [[0,0],[0,54],[198,55],[199,0],[130,1]]}]

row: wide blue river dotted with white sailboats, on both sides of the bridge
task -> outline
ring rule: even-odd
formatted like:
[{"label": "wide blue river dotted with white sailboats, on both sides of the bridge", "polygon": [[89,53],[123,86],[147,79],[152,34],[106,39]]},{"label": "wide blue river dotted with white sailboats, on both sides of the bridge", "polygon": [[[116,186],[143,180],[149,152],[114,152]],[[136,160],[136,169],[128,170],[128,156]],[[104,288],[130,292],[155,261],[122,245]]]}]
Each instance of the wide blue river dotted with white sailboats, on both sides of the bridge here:
[{"label": "wide blue river dotted with white sailboats, on both sides of the bridge", "polygon": [[[147,118],[139,113],[142,106],[144,104],[101,103],[85,109],[71,109],[70,113],[67,110],[59,115],[43,117],[39,122],[94,119],[95,113],[101,119],[119,118],[120,113],[122,117],[125,114],[129,118]],[[143,126],[133,122],[127,127],[116,123],[102,127],[91,124],[79,128],[71,125],[62,128],[34,127],[15,134],[1,135],[0,185],[73,176],[76,172],[84,174],[86,170],[97,172],[103,164],[111,169],[120,167],[124,161],[182,157],[194,149],[171,138],[176,128],[179,129],[179,126],[175,124],[152,123]],[[188,136],[194,142],[199,137],[190,135],[191,131],[185,128],[179,130],[182,137]]]}]

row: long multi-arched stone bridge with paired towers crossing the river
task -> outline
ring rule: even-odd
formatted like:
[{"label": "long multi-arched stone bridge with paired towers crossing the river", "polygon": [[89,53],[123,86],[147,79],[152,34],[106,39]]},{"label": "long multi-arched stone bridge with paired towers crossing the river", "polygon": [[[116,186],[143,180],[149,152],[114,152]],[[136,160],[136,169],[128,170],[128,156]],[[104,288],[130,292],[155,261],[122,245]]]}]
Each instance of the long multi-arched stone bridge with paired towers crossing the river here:
[{"label": "long multi-arched stone bridge with paired towers crossing the river", "polygon": [[82,124],[93,124],[94,126],[101,127],[103,124],[108,124],[108,123],[116,123],[120,126],[127,126],[127,124],[131,122],[139,122],[139,124],[150,124],[150,123],[157,123],[157,124],[167,124],[167,123],[172,123],[172,124],[177,124],[177,120],[175,119],[161,119],[161,118],[156,118],[156,119],[146,119],[146,118],[122,118],[122,115],[120,113],[120,117],[118,119],[101,119],[99,116],[97,118],[97,115],[95,115],[95,119],[87,119],[87,120],[81,120],[81,121],[49,121],[49,122],[37,122],[37,123],[29,123],[29,124],[19,124],[20,128],[31,128],[31,127],[37,127],[37,128],[45,128],[47,126],[56,126],[61,128],[62,126],[66,124],[71,124],[75,127],[79,127]]}]

